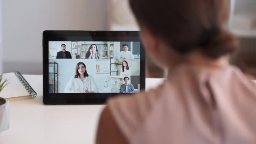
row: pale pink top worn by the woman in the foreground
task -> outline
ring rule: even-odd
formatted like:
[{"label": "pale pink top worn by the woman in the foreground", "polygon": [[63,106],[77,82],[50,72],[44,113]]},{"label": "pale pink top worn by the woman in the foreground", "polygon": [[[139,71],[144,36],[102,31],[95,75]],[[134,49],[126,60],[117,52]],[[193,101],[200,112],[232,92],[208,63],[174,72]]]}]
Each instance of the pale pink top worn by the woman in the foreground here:
[{"label": "pale pink top worn by the woman in the foreground", "polygon": [[233,66],[181,66],[158,88],[108,105],[131,144],[256,144],[256,85]]}]

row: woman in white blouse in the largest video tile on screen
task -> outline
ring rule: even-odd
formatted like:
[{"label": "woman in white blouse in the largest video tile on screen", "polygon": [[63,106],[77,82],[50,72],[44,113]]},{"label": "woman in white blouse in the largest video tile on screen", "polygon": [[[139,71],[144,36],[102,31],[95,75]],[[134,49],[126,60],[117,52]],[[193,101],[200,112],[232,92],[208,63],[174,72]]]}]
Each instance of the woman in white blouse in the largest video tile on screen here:
[{"label": "woman in white blouse in the largest video tile on screen", "polygon": [[88,75],[83,62],[77,63],[75,76],[66,85],[65,93],[97,93],[98,87],[92,76]]}]

